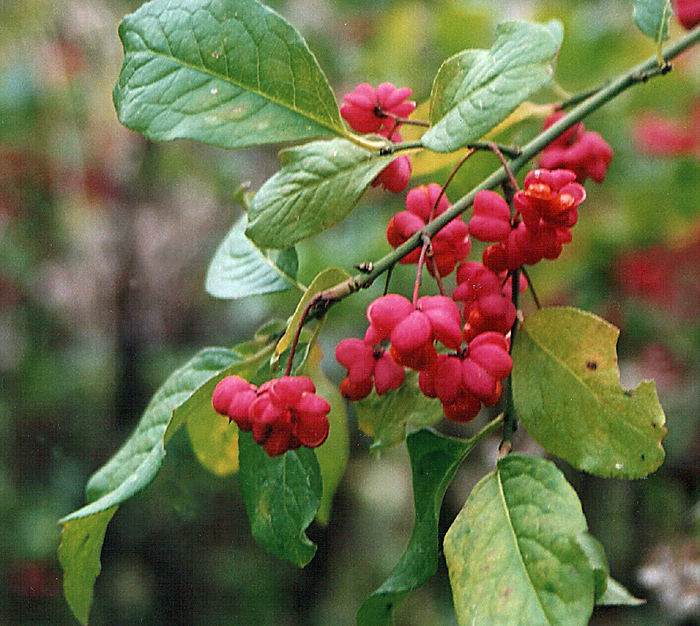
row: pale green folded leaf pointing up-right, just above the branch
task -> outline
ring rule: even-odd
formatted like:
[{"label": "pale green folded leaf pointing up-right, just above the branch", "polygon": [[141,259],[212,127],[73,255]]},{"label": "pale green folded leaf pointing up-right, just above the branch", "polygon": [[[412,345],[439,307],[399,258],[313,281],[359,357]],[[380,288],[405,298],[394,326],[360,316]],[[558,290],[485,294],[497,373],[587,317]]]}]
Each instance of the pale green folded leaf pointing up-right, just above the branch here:
[{"label": "pale green folded leaf pointing up-right, just above the branch", "polygon": [[562,36],[557,21],[503,22],[490,50],[465,50],[447,59],[433,83],[432,127],[421,143],[451,152],[483,137],[551,81]]}]

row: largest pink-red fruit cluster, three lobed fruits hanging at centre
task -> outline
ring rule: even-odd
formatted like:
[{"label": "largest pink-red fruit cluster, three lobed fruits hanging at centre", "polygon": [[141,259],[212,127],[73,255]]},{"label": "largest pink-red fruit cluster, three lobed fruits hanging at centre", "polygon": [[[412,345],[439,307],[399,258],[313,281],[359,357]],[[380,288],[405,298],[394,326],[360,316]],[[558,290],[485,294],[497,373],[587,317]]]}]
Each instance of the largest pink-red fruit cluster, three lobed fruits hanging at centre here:
[{"label": "largest pink-red fruit cluster, three lobed fruits hanging at centre", "polygon": [[[500,381],[513,366],[508,342],[491,331],[470,336],[464,345],[462,316],[451,298],[424,296],[414,306],[403,296],[388,294],[369,305],[367,319],[364,340],[344,339],[336,348],[336,359],[348,371],[340,387],[348,400],[368,395],[372,377],[380,395],[400,387],[408,367],[420,372],[421,391],[439,398],[445,416],[455,422],[467,422],[482,403],[498,401]],[[450,352],[438,353],[436,343]]]}]

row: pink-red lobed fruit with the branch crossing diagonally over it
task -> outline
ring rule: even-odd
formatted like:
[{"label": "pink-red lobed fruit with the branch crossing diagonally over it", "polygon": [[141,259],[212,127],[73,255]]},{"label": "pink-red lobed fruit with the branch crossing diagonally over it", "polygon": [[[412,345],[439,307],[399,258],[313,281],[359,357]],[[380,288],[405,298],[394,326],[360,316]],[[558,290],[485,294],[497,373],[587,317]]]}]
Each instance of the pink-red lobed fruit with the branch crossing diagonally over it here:
[{"label": "pink-red lobed fruit with the branch crossing diagonally over it", "polygon": [[[435,183],[421,185],[408,192],[406,210],[394,215],[386,230],[386,238],[393,248],[398,248],[405,243],[412,235],[424,228],[431,218],[444,213],[450,207],[447,197],[444,194],[441,196],[441,192],[440,185]],[[438,198],[439,202],[437,202]],[[447,276],[457,263],[469,256],[471,249],[467,225],[462,221],[462,217],[456,217],[440,229],[433,236],[430,244],[432,262],[428,263],[428,270],[433,275],[437,271],[440,276]],[[416,249],[403,257],[400,262],[418,263],[419,257],[420,249]]]}]

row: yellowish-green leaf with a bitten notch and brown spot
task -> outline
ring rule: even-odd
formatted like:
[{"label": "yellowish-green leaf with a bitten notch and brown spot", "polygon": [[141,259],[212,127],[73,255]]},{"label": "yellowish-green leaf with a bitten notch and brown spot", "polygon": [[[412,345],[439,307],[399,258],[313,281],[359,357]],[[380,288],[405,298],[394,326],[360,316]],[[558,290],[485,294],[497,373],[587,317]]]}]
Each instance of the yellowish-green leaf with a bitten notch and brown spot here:
[{"label": "yellowish-green leaf with a bitten notch and brown spot", "polygon": [[620,387],[619,331],[571,307],[528,316],[513,345],[513,398],[528,432],[598,476],[642,478],[664,459],[664,412],[653,382]]}]

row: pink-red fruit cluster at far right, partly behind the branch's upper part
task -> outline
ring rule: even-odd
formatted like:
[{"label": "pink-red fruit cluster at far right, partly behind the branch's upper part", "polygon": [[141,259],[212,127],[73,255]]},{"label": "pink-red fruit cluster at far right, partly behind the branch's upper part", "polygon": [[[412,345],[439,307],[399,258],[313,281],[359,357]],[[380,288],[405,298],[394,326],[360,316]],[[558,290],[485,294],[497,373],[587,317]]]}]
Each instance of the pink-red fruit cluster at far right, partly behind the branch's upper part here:
[{"label": "pink-red fruit cluster at far right, partly behind the branch's upper part", "polygon": [[[550,115],[544,122],[549,128],[564,117],[559,111]],[[612,160],[612,148],[599,133],[587,131],[583,122],[564,131],[540,154],[540,167],[546,169],[565,168],[576,174],[580,183],[592,178],[601,183]]]}]

